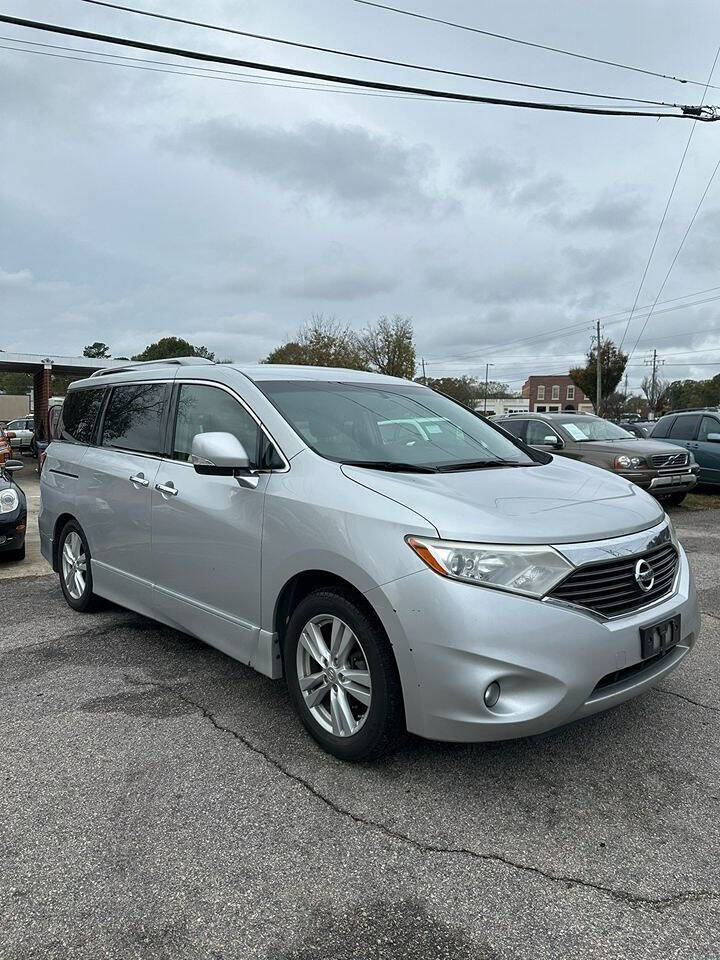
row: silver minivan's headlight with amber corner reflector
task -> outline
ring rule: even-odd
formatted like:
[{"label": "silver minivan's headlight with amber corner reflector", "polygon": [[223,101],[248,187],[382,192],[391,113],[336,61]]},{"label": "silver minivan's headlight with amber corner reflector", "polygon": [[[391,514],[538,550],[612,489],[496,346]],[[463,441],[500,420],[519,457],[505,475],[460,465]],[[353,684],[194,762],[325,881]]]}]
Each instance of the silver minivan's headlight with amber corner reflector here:
[{"label": "silver minivan's headlight with amber corner reflector", "polygon": [[575,568],[545,546],[505,547],[407,537],[421,560],[443,577],[530,597],[543,597]]}]

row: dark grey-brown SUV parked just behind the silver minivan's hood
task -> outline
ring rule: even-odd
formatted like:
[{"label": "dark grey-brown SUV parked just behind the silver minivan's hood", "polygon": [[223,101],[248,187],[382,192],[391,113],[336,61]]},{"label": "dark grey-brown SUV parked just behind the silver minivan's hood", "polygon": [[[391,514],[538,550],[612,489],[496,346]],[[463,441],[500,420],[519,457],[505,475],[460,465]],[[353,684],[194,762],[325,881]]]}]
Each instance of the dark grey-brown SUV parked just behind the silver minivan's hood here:
[{"label": "dark grey-brown SUV parked just behind the silver minivan's hood", "polygon": [[692,453],[675,445],[674,440],[639,440],[602,417],[584,413],[521,413],[498,417],[496,422],[531,447],[612,470],[676,506],[697,483]]}]

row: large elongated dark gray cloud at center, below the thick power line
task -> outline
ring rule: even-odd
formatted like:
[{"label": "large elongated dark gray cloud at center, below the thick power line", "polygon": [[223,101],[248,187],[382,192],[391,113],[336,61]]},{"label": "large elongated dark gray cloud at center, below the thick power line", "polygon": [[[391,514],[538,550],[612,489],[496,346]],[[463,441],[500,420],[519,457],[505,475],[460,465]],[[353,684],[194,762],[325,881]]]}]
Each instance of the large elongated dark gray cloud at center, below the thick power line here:
[{"label": "large elongated dark gray cloud at center, below the thick power line", "polygon": [[215,118],[191,123],[166,142],[306,197],[405,212],[449,209],[429,182],[435,166],[429,147],[365,127],[314,120],[288,130]]}]

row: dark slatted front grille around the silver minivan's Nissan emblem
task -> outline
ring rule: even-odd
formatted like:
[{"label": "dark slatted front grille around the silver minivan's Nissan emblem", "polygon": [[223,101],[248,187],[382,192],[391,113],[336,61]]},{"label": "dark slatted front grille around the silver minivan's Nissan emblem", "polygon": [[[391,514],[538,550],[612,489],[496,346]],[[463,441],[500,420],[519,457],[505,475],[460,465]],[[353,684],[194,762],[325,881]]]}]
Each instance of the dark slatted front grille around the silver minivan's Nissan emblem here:
[{"label": "dark slatted front grille around the silver minivan's Nissan emblem", "polygon": [[[654,582],[649,590],[642,590],[635,578],[639,560],[645,560],[652,569]],[[617,617],[653,603],[669,593],[675,582],[677,565],[677,550],[672,544],[666,543],[632,557],[578,567],[549,596],[554,600],[587,607],[606,617]]]}]

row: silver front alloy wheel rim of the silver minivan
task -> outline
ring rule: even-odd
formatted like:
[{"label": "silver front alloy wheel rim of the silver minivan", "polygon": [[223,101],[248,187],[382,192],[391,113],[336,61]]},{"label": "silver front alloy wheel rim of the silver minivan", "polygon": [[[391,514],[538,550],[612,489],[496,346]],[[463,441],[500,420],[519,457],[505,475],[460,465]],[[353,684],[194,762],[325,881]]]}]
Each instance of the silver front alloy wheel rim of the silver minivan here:
[{"label": "silver front alloy wheel rim of the silver minivan", "polygon": [[339,617],[313,617],[297,645],[297,675],[305,705],[320,726],[351,737],[365,723],[372,700],[362,644]]}]

